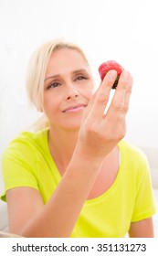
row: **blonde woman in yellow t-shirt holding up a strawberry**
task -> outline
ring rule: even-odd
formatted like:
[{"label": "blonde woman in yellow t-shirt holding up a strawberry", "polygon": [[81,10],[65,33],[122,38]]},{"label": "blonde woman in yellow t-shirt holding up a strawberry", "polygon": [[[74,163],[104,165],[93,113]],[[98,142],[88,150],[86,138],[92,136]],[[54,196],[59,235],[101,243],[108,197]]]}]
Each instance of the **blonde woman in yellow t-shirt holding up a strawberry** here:
[{"label": "blonde woman in yellow t-shirt holding up a strawberry", "polygon": [[[153,237],[148,163],[126,143],[132,76],[123,71],[110,107],[111,70],[94,91],[82,50],[63,41],[34,53],[27,91],[44,129],[5,149],[10,232],[24,237]],[[46,125],[47,124],[47,125]]]}]

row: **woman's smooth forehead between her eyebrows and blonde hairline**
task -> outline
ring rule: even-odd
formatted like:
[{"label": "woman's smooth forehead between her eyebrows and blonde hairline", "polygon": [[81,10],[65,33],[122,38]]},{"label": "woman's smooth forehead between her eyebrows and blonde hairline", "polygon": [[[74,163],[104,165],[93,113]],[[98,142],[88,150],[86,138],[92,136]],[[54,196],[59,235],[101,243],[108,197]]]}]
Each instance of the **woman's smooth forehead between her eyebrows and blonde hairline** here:
[{"label": "woman's smooth forehead between her eyebrows and blonde hairline", "polygon": [[88,69],[86,59],[78,50],[61,48],[52,53],[47,65],[46,77],[77,69]]}]

